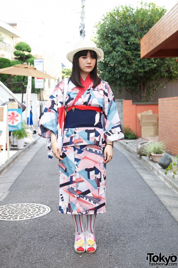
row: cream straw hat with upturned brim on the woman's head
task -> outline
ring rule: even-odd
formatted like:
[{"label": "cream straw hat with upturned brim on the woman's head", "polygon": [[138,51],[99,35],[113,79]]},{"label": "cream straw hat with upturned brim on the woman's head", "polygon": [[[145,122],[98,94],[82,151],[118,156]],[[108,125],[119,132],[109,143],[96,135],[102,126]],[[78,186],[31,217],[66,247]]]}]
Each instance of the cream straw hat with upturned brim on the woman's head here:
[{"label": "cream straw hat with upturned brim on the woman's head", "polygon": [[103,60],[104,52],[102,49],[96,47],[96,44],[93,43],[91,40],[80,40],[74,45],[74,50],[67,53],[66,57],[67,59],[72,63],[75,53],[81,51],[81,50],[94,50],[97,54],[97,62],[100,60]]}]

